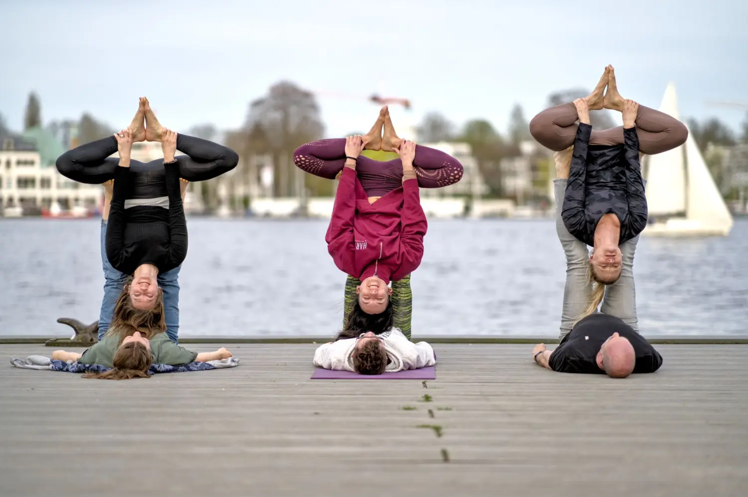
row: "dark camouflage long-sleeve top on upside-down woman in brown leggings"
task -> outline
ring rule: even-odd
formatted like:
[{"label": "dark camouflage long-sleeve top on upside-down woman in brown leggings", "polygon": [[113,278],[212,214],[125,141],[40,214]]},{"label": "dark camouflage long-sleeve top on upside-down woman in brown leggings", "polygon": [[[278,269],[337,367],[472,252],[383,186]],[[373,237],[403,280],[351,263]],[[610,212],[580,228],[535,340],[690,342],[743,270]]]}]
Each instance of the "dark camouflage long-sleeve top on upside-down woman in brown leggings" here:
[{"label": "dark camouflage long-sleeve top on upside-down woman in brown leggings", "polygon": [[613,213],[621,223],[619,244],[647,224],[647,199],[636,128],[623,130],[623,145],[589,145],[592,126],[579,124],[563,200],[563,223],[578,240],[593,246],[600,218]]}]

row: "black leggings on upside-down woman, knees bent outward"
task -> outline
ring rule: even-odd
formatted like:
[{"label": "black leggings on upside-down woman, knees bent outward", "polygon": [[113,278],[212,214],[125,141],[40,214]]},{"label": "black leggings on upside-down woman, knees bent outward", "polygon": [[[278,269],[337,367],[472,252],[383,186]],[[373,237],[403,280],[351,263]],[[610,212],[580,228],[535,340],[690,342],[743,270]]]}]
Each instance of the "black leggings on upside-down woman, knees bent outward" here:
[{"label": "black leggings on upside-down woman, knees bent outward", "polygon": [[[236,167],[239,155],[227,146],[212,141],[177,135],[177,150],[187,155],[177,155],[180,178],[189,182],[205,181],[221,176]],[[109,157],[117,152],[117,138],[85,143],[68,150],[57,159],[57,170],[62,176],[88,185],[100,185],[114,179],[114,170],[120,159]],[[164,160],[130,161],[132,197],[152,198],[166,195]]]}]

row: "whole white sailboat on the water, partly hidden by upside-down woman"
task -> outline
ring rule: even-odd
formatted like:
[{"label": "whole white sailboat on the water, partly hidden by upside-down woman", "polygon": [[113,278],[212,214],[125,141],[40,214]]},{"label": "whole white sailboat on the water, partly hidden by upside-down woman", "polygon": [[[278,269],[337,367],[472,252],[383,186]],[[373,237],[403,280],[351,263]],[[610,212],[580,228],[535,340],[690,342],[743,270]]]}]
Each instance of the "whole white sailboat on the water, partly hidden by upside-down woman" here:
[{"label": "whole white sailboat on the water, partly hidden by upside-down woman", "polygon": [[[665,90],[660,111],[680,119],[672,83]],[[646,180],[649,217],[654,223],[647,225],[643,235],[729,234],[732,215],[690,131],[683,145],[648,158]]]}]

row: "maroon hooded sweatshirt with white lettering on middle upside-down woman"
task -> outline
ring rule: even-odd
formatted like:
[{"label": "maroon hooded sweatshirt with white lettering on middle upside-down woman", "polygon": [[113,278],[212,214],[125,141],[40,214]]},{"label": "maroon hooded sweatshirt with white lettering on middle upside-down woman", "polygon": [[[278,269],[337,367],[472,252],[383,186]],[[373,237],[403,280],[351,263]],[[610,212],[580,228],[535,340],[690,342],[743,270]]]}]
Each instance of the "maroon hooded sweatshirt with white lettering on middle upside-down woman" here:
[{"label": "maroon hooded sweatshirt with white lettering on middle upside-down woman", "polygon": [[356,171],[343,167],[325,241],[340,271],[359,280],[402,280],[420,265],[426,214],[417,179],[370,204]]}]

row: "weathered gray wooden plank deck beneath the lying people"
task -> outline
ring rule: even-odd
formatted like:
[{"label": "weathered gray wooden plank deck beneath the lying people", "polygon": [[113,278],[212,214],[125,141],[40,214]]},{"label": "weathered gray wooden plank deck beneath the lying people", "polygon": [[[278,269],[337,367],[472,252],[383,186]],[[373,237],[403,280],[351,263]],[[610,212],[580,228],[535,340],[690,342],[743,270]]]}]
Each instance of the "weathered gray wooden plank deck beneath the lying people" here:
[{"label": "weathered gray wooden plank deck beneath the lying people", "polygon": [[427,389],[310,380],[314,348],[114,382],[13,368],[52,349],[0,345],[0,496],[746,495],[748,345],[659,345],[663,368],[626,380],[438,345]]}]

